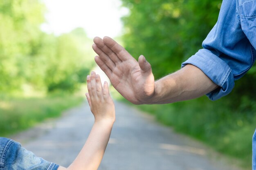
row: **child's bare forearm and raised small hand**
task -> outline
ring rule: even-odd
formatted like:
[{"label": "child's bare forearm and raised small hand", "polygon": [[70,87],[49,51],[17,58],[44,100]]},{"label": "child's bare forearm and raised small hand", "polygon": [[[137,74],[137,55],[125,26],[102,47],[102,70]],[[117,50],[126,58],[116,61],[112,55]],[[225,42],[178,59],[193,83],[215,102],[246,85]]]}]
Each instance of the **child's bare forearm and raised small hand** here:
[{"label": "child's bare forearm and raised small hand", "polygon": [[58,170],[97,170],[106,150],[115,122],[115,105],[108,83],[105,82],[102,88],[99,75],[92,72],[87,77],[87,87],[86,97],[95,118],[92,130],[74,162],[68,168],[59,167]]}]

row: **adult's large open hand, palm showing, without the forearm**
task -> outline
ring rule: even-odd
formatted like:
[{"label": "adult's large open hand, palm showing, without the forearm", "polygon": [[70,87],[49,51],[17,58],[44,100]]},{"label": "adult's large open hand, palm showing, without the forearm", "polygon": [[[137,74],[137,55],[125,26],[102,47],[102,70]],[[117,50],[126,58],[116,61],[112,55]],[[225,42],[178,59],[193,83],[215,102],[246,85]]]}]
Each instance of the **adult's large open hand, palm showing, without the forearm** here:
[{"label": "adult's large open hand, palm showing, without the forearm", "polygon": [[95,62],[106,73],[114,88],[133,104],[150,101],[155,93],[155,79],[143,55],[138,62],[124,47],[109,37],[94,38]]}]

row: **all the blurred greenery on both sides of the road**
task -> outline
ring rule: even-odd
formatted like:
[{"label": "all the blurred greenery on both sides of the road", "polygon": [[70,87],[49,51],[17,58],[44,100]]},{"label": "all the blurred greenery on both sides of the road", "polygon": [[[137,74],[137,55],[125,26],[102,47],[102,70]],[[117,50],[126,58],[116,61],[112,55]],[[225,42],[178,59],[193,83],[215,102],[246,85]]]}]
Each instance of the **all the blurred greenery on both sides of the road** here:
[{"label": "all the blurred greenery on both sides of the road", "polygon": [[[201,44],[218,19],[221,0],[121,0],[129,9],[121,43],[136,59],[143,54],[156,79],[172,73]],[[54,35],[40,30],[40,0],[0,1],[0,135],[33,126],[80,104],[81,84],[94,67],[82,28]],[[104,29],[104,28],[103,28]],[[256,122],[256,67],[226,97],[201,97],[165,105],[136,106],[157,120],[236,157],[248,167]]]}]

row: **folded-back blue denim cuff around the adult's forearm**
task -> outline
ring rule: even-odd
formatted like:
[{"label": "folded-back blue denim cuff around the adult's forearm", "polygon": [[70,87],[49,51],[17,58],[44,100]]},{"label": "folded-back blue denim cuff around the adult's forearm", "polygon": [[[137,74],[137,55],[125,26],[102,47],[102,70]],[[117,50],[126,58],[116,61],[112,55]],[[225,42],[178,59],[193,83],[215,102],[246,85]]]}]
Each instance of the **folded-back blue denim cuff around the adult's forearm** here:
[{"label": "folded-back blue denim cuff around the adult's forearm", "polygon": [[192,64],[204,72],[215,84],[220,86],[207,94],[211,100],[217,100],[229,94],[234,88],[234,76],[229,65],[207,49],[201,49],[182,63]]}]

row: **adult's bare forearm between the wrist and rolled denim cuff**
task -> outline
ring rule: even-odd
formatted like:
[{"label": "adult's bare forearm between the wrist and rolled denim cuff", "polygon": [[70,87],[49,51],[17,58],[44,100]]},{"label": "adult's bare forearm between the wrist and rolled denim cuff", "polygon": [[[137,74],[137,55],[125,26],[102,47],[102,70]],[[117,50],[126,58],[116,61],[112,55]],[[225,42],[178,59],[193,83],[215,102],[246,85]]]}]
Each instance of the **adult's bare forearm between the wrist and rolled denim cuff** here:
[{"label": "adult's bare forearm between the wrist and rolled denim cuff", "polygon": [[166,104],[194,99],[218,88],[198,67],[186,65],[155,82],[155,93],[147,104]]}]

